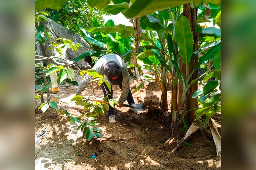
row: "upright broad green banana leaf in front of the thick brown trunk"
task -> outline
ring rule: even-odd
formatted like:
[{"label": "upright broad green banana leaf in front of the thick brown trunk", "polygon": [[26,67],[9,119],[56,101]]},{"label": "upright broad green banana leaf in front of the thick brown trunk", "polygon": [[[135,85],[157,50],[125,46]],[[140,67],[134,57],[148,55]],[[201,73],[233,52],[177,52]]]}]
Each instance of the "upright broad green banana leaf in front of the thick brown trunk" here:
[{"label": "upright broad green banana leaf in front of the thick brown trunk", "polygon": [[192,56],[194,43],[188,18],[181,17],[180,19],[176,20],[175,41],[179,44],[181,58],[188,67]]}]

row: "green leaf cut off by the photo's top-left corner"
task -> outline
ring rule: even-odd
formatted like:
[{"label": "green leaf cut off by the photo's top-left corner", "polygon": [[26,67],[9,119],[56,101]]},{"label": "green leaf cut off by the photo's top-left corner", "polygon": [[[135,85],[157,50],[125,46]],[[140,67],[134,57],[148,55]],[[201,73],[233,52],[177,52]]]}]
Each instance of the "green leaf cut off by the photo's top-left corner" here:
[{"label": "green leaf cut off by the photo's top-left corner", "polygon": [[44,8],[59,10],[66,2],[67,0],[35,0],[35,10],[39,11]]}]

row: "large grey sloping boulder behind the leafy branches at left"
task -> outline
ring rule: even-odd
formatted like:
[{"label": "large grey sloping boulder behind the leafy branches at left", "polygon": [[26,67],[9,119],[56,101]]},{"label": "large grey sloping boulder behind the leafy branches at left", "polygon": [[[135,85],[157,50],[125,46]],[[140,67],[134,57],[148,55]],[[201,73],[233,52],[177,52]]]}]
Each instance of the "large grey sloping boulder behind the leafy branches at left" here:
[{"label": "large grey sloping boulder behind the leafy branches at left", "polygon": [[[48,19],[44,23],[44,29],[48,29],[52,33],[52,41],[54,41],[57,38],[63,37],[63,38],[70,39],[75,43],[79,42],[83,45],[83,47],[78,48],[78,51],[74,51],[68,48],[68,50],[66,52],[63,52],[63,55],[60,56],[61,58],[64,58],[66,60],[73,60],[77,56],[81,55],[82,53],[91,50],[89,44],[86,41],[84,41],[83,37],[81,37],[76,33],[72,33],[71,31],[64,28],[64,26],[61,26],[60,24],[53,21],[52,19]],[[49,48],[49,47],[46,47],[46,48]],[[44,49],[41,49],[38,43],[36,46],[36,50],[37,50],[37,54],[39,55],[39,54],[42,54],[42,50]],[[58,52],[55,49],[52,49],[49,53],[50,53],[50,56],[53,56],[53,55],[56,55]],[[76,64],[80,69],[86,70],[88,68],[91,68],[91,66],[85,61],[77,61]]]}]

